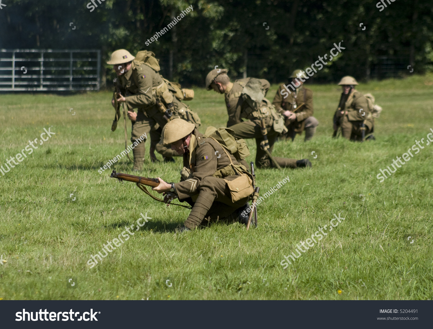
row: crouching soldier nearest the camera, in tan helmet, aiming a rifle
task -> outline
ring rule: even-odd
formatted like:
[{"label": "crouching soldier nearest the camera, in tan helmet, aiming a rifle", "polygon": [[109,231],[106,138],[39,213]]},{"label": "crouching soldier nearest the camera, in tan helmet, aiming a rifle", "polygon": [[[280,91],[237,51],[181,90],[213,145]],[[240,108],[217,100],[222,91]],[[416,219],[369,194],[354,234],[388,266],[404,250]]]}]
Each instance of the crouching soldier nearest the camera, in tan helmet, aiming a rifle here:
[{"label": "crouching soldier nearest the camera, in tan helmet, aiming a rifle", "polygon": [[[217,220],[248,222],[245,211],[253,190],[253,177],[219,142],[201,134],[194,124],[174,119],[162,129],[160,144],[183,155],[179,183],[161,178],[152,190],[165,198],[179,198],[192,206],[181,232]],[[206,220],[206,221],[205,221]]]}]

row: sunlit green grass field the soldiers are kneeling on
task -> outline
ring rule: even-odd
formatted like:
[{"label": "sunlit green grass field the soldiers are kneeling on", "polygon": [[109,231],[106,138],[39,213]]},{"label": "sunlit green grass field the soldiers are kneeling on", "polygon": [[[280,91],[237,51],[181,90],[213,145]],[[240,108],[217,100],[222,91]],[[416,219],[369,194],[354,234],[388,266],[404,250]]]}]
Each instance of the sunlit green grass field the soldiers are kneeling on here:
[{"label": "sunlit green grass field the soldiers are kneeling on", "polygon": [[[301,159],[314,149],[320,160],[313,168],[256,171],[263,193],[290,178],[259,205],[257,229],[216,224],[182,235],[174,229],[187,209],[166,208],[135,184],[119,184],[111,170],[98,173],[124,145],[123,122],[110,131],[110,92],[2,95],[1,165],[39,140],[44,127],[55,135],[0,174],[0,300],[432,299],[433,146],[424,144],[383,183],[376,179],[415,139],[427,140],[432,84],[432,75],[361,84],[358,90],[373,93],[384,108],[377,140],[365,143],[331,139],[341,91],[308,86],[317,135],[307,143],[299,136],[278,142],[274,154]],[[202,119],[200,131],[225,126],[223,97],[203,89],[195,95],[189,104]],[[255,144],[248,143],[252,161]],[[179,180],[181,158],[152,164],[147,157],[145,164],[141,176]],[[115,165],[118,172],[131,168],[125,158]],[[90,255],[135,226],[140,213],[152,219],[90,268]],[[345,220],[283,269],[284,255],[334,213]],[[67,288],[69,276],[77,277],[75,288]]]}]

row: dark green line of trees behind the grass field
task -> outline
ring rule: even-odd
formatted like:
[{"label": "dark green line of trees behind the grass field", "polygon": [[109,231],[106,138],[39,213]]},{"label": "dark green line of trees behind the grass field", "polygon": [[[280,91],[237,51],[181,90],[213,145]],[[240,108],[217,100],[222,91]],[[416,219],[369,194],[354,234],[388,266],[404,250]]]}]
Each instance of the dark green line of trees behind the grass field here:
[{"label": "dark green line of trees behind the grass field", "polygon": [[[162,74],[204,86],[216,65],[231,77],[287,81],[330,52],[345,48],[316,83],[352,75],[361,81],[433,71],[431,0],[7,0],[0,10],[0,48],[155,52]],[[385,6],[386,5],[386,6]],[[179,20],[187,7],[192,11]],[[177,21],[176,24],[172,22]],[[76,28],[72,30],[70,23]],[[171,28],[167,28],[171,24]],[[157,32],[158,39],[148,42]],[[148,42],[149,45],[146,45]],[[107,82],[111,86],[110,82]]]}]

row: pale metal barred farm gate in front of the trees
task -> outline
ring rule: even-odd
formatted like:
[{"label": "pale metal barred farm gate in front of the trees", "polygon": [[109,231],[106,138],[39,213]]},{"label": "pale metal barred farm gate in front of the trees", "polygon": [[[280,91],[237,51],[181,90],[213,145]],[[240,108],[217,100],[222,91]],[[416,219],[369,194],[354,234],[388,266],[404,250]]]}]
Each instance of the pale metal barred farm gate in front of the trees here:
[{"label": "pale metal barred farm gate in front of the trees", "polygon": [[99,90],[100,50],[0,49],[0,91]]}]

